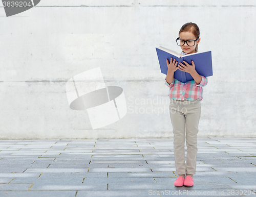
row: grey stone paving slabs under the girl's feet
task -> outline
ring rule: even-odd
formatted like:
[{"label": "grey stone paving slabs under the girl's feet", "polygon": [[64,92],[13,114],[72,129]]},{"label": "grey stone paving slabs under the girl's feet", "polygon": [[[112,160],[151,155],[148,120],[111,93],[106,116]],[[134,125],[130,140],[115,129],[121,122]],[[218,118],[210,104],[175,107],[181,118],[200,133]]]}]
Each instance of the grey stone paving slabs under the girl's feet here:
[{"label": "grey stone paving slabs under the girl's feet", "polygon": [[0,166],[1,197],[256,196],[256,138],[198,138],[193,187],[173,139],[0,140]]}]

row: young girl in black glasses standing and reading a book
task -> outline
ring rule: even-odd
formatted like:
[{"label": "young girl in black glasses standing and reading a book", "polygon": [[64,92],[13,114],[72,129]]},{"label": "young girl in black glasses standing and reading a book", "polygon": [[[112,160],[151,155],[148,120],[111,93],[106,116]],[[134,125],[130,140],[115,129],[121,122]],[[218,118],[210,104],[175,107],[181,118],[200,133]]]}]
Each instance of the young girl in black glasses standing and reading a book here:
[{"label": "young girl in black glasses standing and reading a book", "polygon": [[[181,47],[181,56],[196,53],[200,42],[200,31],[197,24],[188,22],[179,31],[177,44]],[[174,182],[177,187],[194,185],[193,175],[196,174],[197,164],[197,133],[201,115],[201,101],[203,88],[208,80],[200,76],[195,70],[195,63],[191,65],[174,59],[166,60],[168,71],[165,84],[170,88],[170,119],[174,133],[174,158],[178,179]],[[182,83],[174,79],[174,72],[179,69],[190,73],[194,80]],[[185,129],[186,128],[186,129]],[[187,159],[185,164],[184,143],[186,140]]]}]

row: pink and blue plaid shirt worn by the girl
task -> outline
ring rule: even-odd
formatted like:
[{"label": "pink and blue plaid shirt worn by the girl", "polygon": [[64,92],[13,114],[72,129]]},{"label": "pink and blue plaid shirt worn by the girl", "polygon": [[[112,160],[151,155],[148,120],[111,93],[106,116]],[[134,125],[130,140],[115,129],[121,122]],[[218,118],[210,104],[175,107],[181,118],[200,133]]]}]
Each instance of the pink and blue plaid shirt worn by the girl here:
[{"label": "pink and blue plaid shirt worn by the girl", "polygon": [[[187,55],[184,52],[181,52],[181,56]],[[201,76],[202,81],[200,84],[197,84],[195,80],[188,81],[186,83],[182,83],[177,79],[171,84],[168,84],[165,78],[165,84],[170,88],[169,89],[169,97],[174,100],[188,100],[194,101],[196,99],[203,100],[203,87],[206,86],[208,79],[207,77]]]}]

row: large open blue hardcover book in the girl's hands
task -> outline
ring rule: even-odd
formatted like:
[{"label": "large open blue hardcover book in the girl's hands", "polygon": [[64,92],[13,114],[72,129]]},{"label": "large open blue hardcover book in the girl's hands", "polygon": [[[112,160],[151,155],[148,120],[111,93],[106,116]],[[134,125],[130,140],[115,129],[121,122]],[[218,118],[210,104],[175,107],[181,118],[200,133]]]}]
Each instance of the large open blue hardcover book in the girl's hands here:
[{"label": "large open blue hardcover book in the girl's hands", "polygon": [[[195,69],[199,75],[204,77],[212,76],[212,61],[211,61],[211,51],[207,52],[197,52],[194,54],[188,54],[183,57],[180,56],[177,52],[173,50],[169,50],[168,48],[158,46],[156,47],[157,56],[160,64],[161,72],[167,75],[167,64],[166,59],[170,62],[170,58],[176,59],[176,61],[184,64],[183,60],[185,60],[188,64],[192,65],[191,61],[193,60],[195,63]],[[177,64],[177,66],[178,66]],[[181,71],[177,69],[174,72],[174,79],[185,83],[187,81],[194,80],[193,77],[185,71]]]}]

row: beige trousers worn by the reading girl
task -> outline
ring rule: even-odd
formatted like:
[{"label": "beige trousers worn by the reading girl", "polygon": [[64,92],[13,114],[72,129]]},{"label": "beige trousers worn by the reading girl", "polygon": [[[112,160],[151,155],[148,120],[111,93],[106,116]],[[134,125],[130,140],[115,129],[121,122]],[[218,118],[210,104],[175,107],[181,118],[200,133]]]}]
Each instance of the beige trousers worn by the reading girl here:
[{"label": "beige trousers worn by the reading girl", "polygon": [[[197,164],[197,134],[201,101],[178,101],[170,98],[170,119],[174,133],[174,158],[178,175],[195,175]],[[185,163],[185,139],[187,160]]]}]

